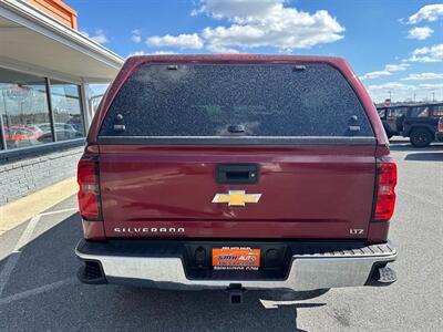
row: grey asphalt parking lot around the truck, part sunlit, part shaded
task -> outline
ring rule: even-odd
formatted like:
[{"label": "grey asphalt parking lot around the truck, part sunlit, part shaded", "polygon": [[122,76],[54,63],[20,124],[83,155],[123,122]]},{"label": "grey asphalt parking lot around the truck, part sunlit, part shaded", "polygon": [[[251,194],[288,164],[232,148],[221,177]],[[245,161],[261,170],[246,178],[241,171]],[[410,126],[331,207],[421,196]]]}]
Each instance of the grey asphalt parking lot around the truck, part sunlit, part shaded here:
[{"label": "grey asphalt parking lot around the truck, part sunlit, part shaded", "polygon": [[285,294],[178,292],[84,286],[73,248],[81,238],[71,197],[0,236],[0,330],[442,331],[443,144],[395,139],[398,206],[390,238],[399,281],[388,288]]}]

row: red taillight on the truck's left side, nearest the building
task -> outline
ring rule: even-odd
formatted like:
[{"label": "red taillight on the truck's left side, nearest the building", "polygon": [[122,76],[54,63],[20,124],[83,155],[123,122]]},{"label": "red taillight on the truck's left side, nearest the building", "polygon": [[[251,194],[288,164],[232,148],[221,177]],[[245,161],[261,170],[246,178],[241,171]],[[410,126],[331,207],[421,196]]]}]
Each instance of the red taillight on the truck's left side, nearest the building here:
[{"label": "red taillight on the truck's left side, nearest the building", "polygon": [[100,188],[97,162],[95,159],[80,159],[78,167],[79,209],[86,220],[100,219]]}]

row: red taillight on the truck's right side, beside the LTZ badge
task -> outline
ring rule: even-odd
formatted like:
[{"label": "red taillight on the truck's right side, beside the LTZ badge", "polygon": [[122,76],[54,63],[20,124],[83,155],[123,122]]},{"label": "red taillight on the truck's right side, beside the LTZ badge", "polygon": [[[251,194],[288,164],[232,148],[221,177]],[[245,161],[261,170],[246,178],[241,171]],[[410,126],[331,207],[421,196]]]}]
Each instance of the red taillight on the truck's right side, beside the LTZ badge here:
[{"label": "red taillight on the truck's right side, beside the LTZ badge", "polygon": [[378,193],[374,219],[377,221],[391,219],[395,206],[396,165],[393,162],[378,164]]}]

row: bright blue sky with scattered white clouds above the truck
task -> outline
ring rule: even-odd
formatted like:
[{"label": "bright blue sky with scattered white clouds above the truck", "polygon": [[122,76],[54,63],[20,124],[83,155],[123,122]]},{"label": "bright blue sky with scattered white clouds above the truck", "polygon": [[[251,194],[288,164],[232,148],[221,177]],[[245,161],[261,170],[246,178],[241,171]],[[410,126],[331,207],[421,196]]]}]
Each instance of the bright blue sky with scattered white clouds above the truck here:
[{"label": "bright blue sky with scattered white clouds above the truck", "polygon": [[443,2],[64,0],[123,58],[164,53],[344,58],[374,102],[443,100]]}]

